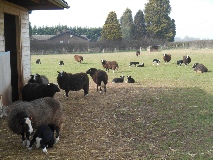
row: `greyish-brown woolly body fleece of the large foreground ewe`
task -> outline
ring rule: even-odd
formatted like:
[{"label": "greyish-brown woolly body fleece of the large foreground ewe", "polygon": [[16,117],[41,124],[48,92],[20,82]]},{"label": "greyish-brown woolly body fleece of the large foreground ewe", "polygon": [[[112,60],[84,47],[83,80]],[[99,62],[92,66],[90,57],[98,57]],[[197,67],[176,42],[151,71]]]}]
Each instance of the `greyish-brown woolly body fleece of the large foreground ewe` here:
[{"label": "greyish-brown woolly body fleece of the large foreground ewe", "polygon": [[19,116],[26,114],[32,117],[33,128],[40,125],[54,124],[61,128],[63,123],[63,111],[61,103],[51,97],[36,99],[30,102],[19,102],[12,104],[12,109],[8,116],[8,127],[16,134],[21,134]]}]

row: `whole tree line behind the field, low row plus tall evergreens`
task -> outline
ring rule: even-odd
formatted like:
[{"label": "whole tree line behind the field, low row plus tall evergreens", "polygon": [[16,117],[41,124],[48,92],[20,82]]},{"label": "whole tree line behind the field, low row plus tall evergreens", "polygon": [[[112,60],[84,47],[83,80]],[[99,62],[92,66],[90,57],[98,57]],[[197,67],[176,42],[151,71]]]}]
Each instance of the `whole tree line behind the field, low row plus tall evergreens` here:
[{"label": "whole tree line behind the field, low row plus tall evergreens", "polygon": [[140,41],[144,39],[157,39],[173,42],[176,35],[175,20],[169,17],[171,6],[169,0],[149,0],[145,4],[144,12],[138,10],[132,16],[132,11],[126,8],[120,19],[112,11],[108,14],[103,27],[68,27],[67,25],[57,26],[31,26],[31,35],[56,35],[70,30],[77,35],[86,35],[92,41]]}]

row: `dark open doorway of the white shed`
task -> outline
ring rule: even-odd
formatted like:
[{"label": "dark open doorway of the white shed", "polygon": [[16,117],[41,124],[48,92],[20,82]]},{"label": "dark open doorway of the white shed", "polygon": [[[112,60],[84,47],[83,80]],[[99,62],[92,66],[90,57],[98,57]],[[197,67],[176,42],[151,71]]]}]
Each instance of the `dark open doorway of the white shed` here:
[{"label": "dark open doorway of the white shed", "polygon": [[5,51],[10,51],[12,101],[19,100],[17,47],[16,47],[16,16],[4,14]]}]

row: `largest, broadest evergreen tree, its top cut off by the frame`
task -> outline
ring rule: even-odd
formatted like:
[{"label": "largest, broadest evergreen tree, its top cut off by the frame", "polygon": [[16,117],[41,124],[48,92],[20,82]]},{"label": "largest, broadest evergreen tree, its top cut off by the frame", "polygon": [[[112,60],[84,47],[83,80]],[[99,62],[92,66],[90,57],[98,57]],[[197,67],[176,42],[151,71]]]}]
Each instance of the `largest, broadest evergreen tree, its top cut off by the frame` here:
[{"label": "largest, broadest evergreen tree, its top cut off by the frame", "polygon": [[175,35],[173,35],[171,29],[172,20],[169,17],[170,12],[169,0],[149,0],[145,4],[145,22],[149,36],[168,41],[174,39]]}]

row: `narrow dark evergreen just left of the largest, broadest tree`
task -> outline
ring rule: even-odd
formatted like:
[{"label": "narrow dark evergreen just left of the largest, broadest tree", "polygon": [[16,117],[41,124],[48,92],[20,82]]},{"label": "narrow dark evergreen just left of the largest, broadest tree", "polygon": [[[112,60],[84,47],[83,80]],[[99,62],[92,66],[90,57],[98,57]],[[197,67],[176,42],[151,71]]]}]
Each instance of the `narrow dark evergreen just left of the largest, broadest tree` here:
[{"label": "narrow dark evergreen just left of the largest, broadest tree", "polygon": [[142,10],[139,10],[134,17],[134,39],[138,40],[146,36],[146,24]]}]

